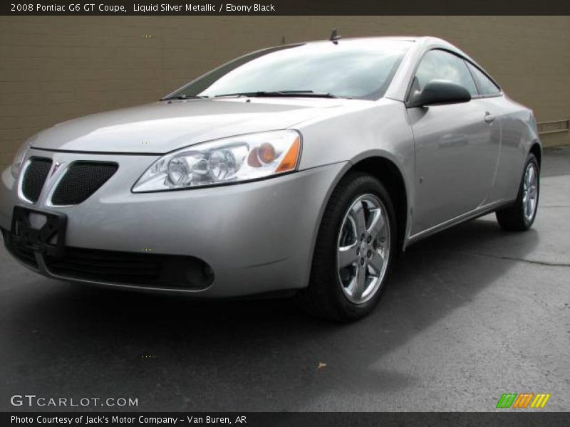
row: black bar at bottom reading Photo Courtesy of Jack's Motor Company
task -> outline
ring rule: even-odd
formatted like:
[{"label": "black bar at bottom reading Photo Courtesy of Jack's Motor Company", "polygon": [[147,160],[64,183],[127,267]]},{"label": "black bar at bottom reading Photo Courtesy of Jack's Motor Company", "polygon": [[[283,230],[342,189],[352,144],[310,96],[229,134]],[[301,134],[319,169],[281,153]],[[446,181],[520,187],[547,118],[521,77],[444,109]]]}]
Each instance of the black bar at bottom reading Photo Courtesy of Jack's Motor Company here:
[{"label": "black bar at bottom reading Photo Courtesy of Jack's Motor Company", "polygon": [[14,426],[106,426],[106,427],[567,427],[570,413],[537,411],[499,412],[3,412],[0,425]]}]

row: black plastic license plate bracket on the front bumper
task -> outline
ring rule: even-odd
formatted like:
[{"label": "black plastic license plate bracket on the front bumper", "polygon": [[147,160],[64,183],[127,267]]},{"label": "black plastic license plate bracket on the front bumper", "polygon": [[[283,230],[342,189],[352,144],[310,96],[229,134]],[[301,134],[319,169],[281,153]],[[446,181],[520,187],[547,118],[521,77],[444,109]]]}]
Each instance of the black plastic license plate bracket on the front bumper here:
[{"label": "black plastic license plate bracket on the front bumper", "polygon": [[[39,228],[33,228],[30,214],[45,216],[46,222]],[[66,214],[14,206],[10,238],[16,246],[60,258],[65,253],[66,228]]]}]

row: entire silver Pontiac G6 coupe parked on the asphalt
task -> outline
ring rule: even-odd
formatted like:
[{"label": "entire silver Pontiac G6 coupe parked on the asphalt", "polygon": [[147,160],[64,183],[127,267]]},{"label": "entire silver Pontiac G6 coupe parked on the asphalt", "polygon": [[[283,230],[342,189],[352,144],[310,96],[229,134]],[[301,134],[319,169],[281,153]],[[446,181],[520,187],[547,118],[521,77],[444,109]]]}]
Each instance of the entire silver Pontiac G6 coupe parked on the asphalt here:
[{"label": "entire silver Pontiac G6 coupe parked on the asphalt", "polygon": [[29,139],[1,176],[10,253],[51,278],[370,312],[398,251],[496,212],[527,230],[531,110],[437,38],[268,48],[159,102]]}]

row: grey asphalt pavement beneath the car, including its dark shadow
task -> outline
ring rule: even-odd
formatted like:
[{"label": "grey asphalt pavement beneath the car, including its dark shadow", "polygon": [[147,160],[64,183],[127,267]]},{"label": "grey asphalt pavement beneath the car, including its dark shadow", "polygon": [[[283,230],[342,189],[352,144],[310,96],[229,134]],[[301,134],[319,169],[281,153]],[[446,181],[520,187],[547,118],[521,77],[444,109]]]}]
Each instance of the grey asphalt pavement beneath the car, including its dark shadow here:
[{"label": "grey asphalt pavement beneath the car, including its dark shadow", "polygon": [[[132,398],[130,411],[570,410],[570,149],[544,154],[537,220],[493,215],[411,246],[375,312],[192,302],[43,278],[0,248],[0,410],[11,396]],[[93,407],[89,410],[113,410]]]}]

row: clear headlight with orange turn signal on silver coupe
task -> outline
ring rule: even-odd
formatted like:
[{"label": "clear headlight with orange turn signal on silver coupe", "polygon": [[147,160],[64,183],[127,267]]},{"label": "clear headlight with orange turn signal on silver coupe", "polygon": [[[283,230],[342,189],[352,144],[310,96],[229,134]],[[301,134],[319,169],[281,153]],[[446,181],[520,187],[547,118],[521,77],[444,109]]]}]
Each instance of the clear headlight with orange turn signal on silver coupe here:
[{"label": "clear headlight with orange turn signal on silver coupe", "polygon": [[278,130],[186,147],[154,162],[133,192],[186,189],[264,178],[296,169],[301,137]]}]

